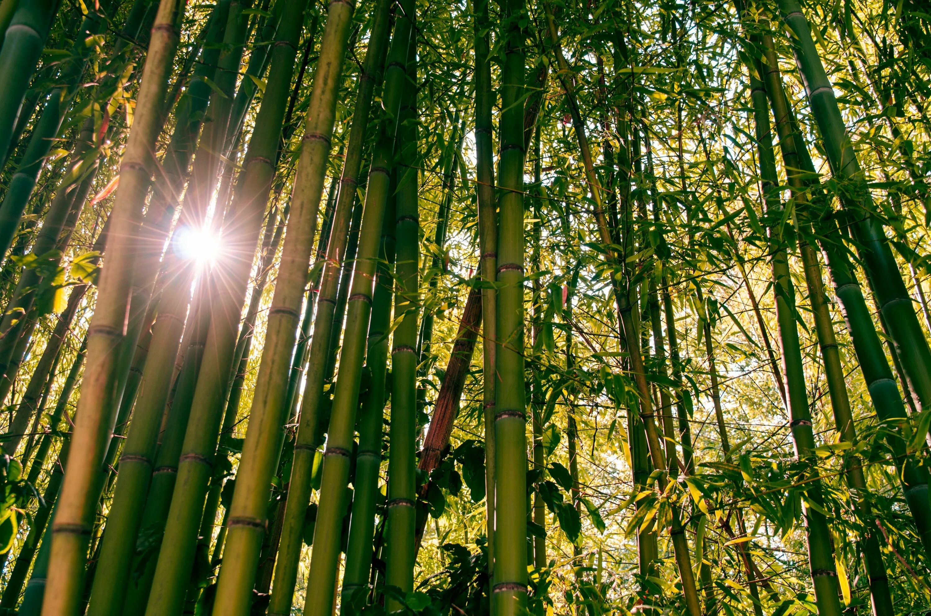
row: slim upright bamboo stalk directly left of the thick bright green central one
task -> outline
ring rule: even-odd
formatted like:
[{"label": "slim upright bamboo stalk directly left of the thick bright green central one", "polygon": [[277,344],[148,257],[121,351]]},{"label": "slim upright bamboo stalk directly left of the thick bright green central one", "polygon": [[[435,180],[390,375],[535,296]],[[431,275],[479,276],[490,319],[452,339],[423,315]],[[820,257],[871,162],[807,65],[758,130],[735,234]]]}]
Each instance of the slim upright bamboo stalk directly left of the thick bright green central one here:
[{"label": "slim upright bamboo stalk directly left of the thick bright green central one", "polygon": [[[481,276],[482,411],[485,433],[485,534],[488,539],[488,574],[494,573],[494,400],[495,315],[497,292],[498,222],[495,211],[492,137],[492,64],[490,60],[488,0],[475,4],[475,147],[476,200],[479,215],[479,275]],[[490,585],[493,582],[490,582]],[[489,588],[491,593],[491,588]]]}]

